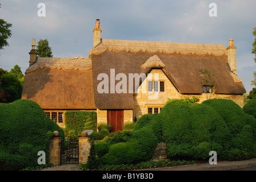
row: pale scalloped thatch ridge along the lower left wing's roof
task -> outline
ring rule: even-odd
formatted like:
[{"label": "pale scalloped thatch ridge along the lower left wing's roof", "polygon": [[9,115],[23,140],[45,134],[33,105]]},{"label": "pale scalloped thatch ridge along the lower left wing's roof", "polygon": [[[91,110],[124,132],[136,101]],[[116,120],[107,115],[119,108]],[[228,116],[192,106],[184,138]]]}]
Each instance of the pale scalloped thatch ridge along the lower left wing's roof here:
[{"label": "pale scalloped thatch ridge along the lower left wing's roof", "polygon": [[37,61],[27,68],[25,73],[35,71],[38,68],[49,69],[80,69],[81,71],[87,71],[91,69],[91,59],[70,59],[59,57],[38,57]]}]

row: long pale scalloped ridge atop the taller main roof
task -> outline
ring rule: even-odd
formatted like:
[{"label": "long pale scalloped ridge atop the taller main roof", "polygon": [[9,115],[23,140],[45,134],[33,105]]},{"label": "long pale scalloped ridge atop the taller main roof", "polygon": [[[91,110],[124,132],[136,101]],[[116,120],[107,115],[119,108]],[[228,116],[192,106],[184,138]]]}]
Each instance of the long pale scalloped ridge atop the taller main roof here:
[{"label": "long pale scalloped ridge atop the taller main roof", "polygon": [[105,51],[116,52],[149,52],[149,53],[181,53],[197,55],[227,55],[227,49],[222,44],[193,44],[193,43],[170,43],[148,42],[135,40],[110,40],[102,39],[99,46],[91,50],[91,54],[98,55]]}]

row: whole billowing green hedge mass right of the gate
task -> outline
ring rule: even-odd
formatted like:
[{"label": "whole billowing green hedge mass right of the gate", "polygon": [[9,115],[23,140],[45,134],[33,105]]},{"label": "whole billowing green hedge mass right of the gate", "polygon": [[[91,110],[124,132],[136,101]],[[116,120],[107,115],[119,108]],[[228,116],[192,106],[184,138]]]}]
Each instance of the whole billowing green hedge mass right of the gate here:
[{"label": "whole billowing green hedge mass right of the gate", "polygon": [[169,100],[159,114],[142,115],[133,131],[105,137],[97,155],[101,164],[141,162],[166,142],[172,159],[208,159],[216,151],[219,159],[243,160],[256,157],[255,137],[256,119],[231,100]]}]

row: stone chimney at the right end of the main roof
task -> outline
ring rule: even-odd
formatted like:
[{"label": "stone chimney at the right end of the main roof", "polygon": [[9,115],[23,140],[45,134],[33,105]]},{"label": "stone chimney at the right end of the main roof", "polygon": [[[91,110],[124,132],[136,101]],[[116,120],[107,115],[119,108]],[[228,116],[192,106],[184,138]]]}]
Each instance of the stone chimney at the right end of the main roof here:
[{"label": "stone chimney at the right end of the main roof", "polygon": [[227,62],[229,63],[231,72],[235,73],[235,75],[237,75],[237,58],[235,54],[236,48],[237,47],[233,45],[233,39],[229,39],[229,47],[227,47]]}]

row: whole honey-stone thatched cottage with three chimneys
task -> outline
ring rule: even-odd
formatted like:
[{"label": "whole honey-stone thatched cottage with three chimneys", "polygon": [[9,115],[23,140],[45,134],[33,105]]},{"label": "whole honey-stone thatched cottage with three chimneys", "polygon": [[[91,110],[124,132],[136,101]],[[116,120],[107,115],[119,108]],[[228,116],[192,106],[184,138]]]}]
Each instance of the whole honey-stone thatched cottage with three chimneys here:
[{"label": "whole honey-stone thatched cottage with three chimneys", "polygon": [[[243,106],[232,39],[229,47],[102,39],[98,19],[93,32],[88,58],[37,57],[33,39],[22,98],[37,102],[59,126],[67,110],[95,110],[98,124],[122,130],[159,113],[168,98],[226,98]],[[214,74],[213,90],[201,83],[201,69]]]}]

